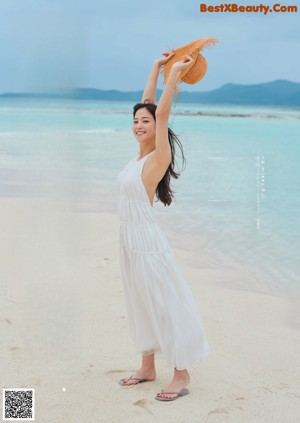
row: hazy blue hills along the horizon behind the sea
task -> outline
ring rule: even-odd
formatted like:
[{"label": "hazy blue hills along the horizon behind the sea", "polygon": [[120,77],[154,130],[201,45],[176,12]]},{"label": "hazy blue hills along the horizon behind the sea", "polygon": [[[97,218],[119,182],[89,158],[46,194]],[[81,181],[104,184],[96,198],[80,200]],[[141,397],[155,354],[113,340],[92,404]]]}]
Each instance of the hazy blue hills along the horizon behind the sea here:
[{"label": "hazy blue hills along the horizon behind the sea", "polygon": [[[180,86],[183,88],[183,85]],[[158,90],[158,96],[162,90]],[[77,88],[69,91],[45,93],[4,93],[1,98],[52,98],[70,100],[140,101],[142,91],[98,90]],[[262,84],[225,84],[206,92],[180,91],[178,100],[182,103],[236,104],[258,106],[300,107],[300,83],[276,80]]]}]

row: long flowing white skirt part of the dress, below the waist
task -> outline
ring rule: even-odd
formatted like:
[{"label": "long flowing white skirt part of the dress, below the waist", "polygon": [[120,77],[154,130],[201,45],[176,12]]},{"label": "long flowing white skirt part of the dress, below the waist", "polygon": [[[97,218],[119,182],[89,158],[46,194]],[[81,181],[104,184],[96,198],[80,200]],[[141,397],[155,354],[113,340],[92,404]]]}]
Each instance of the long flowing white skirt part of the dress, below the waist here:
[{"label": "long flowing white skirt part of the dress, below the waist", "polygon": [[172,251],[143,254],[120,245],[119,252],[136,352],[155,352],[178,370],[202,360],[210,349],[197,304]]}]

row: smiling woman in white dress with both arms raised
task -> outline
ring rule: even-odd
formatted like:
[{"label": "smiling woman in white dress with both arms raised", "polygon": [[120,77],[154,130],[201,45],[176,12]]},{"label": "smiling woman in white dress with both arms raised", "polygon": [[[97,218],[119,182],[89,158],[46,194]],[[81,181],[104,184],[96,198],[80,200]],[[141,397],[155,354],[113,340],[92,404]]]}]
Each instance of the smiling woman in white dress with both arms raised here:
[{"label": "smiling woman in white dress with both arms raised", "polygon": [[[163,53],[154,62],[142,102],[134,106],[133,134],[139,155],[118,176],[120,215],[120,268],[130,331],[142,365],[120,384],[154,381],[155,356],[174,368],[172,381],[156,399],[172,401],[189,393],[187,368],[208,354],[209,347],[197,305],[180,274],[169,243],[153,209],[154,195],[170,205],[170,176],[175,143],[168,128],[173,91],[180,72],[193,63],[190,56],[175,62],[158,105],[155,105],[159,70],[173,57]],[[182,149],[181,149],[182,150]],[[184,158],[184,157],[183,157]]]}]

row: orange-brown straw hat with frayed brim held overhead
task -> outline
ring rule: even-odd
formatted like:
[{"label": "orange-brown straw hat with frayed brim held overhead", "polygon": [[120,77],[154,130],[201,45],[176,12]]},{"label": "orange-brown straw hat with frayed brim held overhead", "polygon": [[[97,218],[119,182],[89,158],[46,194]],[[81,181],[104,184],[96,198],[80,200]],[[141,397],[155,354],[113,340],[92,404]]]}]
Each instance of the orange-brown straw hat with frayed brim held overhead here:
[{"label": "orange-brown straw hat with frayed brim held overhead", "polygon": [[174,91],[178,93],[179,89],[177,84],[180,82],[185,82],[186,84],[196,84],[196,82],[199,82],[207,71],[207,61],[205,57],[200,54],[200,51],[205,47],[214,46],[217,41],[216,38],[202,38],[173,50],[175,55],[163,67],[164,83],[166,84],[168,80],[173,63],[181,60],[186,54],[194,59],[194,63],[178,74]]}]

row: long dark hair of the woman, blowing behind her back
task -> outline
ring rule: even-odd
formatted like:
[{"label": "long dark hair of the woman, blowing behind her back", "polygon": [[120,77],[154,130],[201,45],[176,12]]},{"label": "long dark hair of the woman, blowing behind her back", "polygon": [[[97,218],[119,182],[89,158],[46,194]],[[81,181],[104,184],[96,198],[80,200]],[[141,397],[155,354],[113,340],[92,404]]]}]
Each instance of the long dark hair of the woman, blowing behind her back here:
[{"label": "long dark hair of the woman, blowing behind her back", "polygon": [[[143,108],[147,109],[148,112],[151,113],[151,115],[154,117],[154,120],[156,121],[155,111],[157,106],[156,104],[152,103],[149,100],[145,100],[145,103],[137,103],[133,107],[133,117],[135,117],[135,114],[138,110]],[[176,172],[174,169],[174,165],[176,161],[175,160],[175,152],[176,152],[175,144],[178,145],[181,152],[181,157],[183,162],[183,166],[181,170],[184,170],[185,162],[186,162],[184,154],[183,154],[182,144],[179,138],[177,137],[177,135],[174,134],[174,132],[170,128],[168,128],[168,138],[169,138],[169,144],[171,147],[172,161],[170,163],[170,166],[166,170],[166,173],[164,174],[163,178],[158,183],[156,188],[156,197],[157,197],[156,201],[161,201],[165,206],[169,206],[172,203],[172,200],[174,198],[174,191],[171,189],[171,186],[170,186],[171,177],[174,179],[178,179],[180,176],[180,173]]]}]

